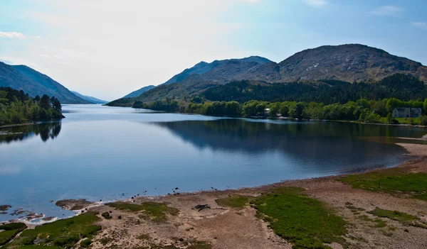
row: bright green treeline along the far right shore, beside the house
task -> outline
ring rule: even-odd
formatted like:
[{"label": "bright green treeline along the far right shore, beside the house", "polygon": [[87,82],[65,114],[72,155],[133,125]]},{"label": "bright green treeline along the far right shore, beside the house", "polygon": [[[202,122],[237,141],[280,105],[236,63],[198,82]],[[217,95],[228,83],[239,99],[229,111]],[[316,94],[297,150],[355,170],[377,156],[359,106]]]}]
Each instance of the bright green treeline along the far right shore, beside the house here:
[{"label": "bright green treeline along the far right shore, beside the house", "polygon": [[[376,123],[386,117],[388,123],[397,123],[392,118],[392,111],[396,107],[411,106],[413,108],[427,111],[427,99],[425,101],[401,101],[399,99],[383,99],[379,101],[359,99],[348,101],[345,104],[327,104],[316,102],[267,102],[251,100],[243,104],[237,101],[214,101],[204,104],[190,103],[185,109],[188,113],[204,114],[209,116],[229,116],[229,117],[275,117],[283,116],[289,118],[304,119],[327,119],[344,121],[364,121]],[[427,125],[427,120],[425,117]]]}]

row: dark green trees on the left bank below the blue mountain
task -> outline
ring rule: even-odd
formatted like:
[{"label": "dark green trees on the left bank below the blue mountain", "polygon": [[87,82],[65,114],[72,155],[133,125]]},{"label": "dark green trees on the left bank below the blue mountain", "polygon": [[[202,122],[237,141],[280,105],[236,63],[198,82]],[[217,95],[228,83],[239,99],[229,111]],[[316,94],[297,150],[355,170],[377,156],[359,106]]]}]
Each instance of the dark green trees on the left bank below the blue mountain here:
[{"label": "dark green trees on the left bank below the blue mountain", "polygon": [[31,98],[28,93],[0,87],[0,126],[28,121],[49,121],[63,118],[60,101],[44,94]]}]

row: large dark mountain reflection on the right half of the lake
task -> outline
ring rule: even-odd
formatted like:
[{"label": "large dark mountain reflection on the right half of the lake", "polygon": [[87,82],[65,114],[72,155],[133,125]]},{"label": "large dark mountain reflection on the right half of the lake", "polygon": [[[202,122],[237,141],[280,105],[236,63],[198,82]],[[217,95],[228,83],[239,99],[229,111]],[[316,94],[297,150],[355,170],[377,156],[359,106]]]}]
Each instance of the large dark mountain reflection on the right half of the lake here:
[{"label": "large dark mountain reflection on the right half of the lake", "polygon": [[250,155],[276,152],[312,165],[342,164],[341,167],[348,170],[384,167],[401,160],[403,148],[367,137],[420,138],[427,133],[427,129],[335,122],[280,124],[220,119],[154,124],[167,128],[200,150],[209,148]]}]

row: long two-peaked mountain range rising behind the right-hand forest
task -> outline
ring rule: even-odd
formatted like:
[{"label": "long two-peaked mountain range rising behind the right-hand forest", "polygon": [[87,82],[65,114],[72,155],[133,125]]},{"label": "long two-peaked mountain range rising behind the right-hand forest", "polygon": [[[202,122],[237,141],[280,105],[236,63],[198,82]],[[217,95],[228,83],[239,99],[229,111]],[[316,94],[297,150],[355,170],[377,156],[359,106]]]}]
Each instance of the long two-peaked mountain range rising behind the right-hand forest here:
[{"label": "long two-peaked mountain range rising behind the right-hand forest", "polygon": [[258,56],[199,62],[139,96],[127,95],[128,99],[117,99],[107,105],[132,106],[137,100],[147,103],[167,97],[184,99],[210,87],[243,79],[268,83],[319,79],[377,82],[396,73],[412,74],[427,81],[427,67],[419,62],[367,45],[327,45],[297,52],[279,63]]}]

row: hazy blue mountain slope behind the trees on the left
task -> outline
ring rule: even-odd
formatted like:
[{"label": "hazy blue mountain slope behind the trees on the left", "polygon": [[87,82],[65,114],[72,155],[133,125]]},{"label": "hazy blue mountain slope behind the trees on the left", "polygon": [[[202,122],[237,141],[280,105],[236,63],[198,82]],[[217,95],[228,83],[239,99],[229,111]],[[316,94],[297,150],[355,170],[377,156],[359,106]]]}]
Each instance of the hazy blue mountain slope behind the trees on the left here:
[{"label": "hazy blue mountain slope behind the trees on the left", "polygon": [[11,66],[0,62],[0,87],[23,90],[30,96],[55,96],[61,104],[93,104],[75,96],[47,75],[24,65]]}]

